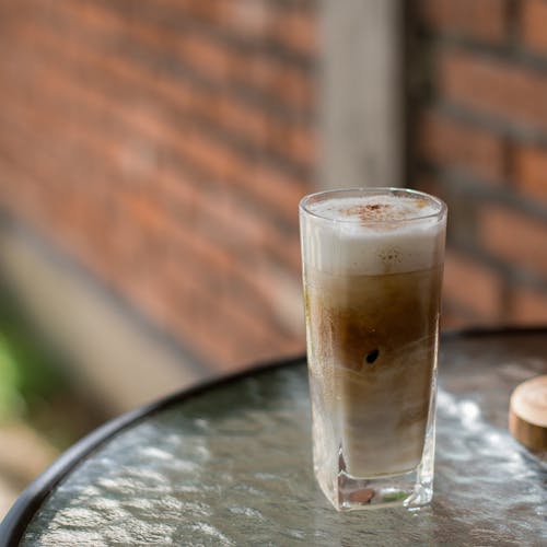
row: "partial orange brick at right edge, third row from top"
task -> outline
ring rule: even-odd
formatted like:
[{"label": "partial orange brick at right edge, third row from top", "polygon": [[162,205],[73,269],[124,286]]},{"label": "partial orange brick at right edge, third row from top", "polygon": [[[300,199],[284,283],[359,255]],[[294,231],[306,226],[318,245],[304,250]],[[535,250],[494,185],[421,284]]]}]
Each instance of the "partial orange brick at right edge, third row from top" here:
[{"label": "partial orange brick at right edge, third row from top", "polygon": [[517,149],[515,183],[526,197],[547,205],[547,148],[523,146]]}]

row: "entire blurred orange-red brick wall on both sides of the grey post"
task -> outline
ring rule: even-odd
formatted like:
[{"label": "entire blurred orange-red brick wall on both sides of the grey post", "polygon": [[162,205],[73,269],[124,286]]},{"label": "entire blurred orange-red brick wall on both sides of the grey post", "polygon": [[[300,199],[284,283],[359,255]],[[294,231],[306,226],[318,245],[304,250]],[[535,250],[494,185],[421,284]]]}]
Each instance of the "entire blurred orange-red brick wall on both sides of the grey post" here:
[{"label": "entire blurred orange-red brick wall on both sides of the grey post", "polygon": [[[408,7],[445,326],[547,321],[547,2]],[[0,0],[0,210],[217,368],[303,348],[317,0]],[[363,154],[366,151],[363,151]]]}]

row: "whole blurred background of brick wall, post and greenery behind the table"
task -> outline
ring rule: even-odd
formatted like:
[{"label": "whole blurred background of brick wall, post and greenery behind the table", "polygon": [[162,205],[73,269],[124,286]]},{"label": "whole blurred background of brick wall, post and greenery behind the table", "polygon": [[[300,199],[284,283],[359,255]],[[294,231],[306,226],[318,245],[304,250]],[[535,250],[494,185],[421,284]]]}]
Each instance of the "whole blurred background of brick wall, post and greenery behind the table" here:
[{"label": "whole blurred background of brick wall, post and greenery behind the table", "polygon": [[547,0],[0,0],[0,515],[106,419],[304,350],[304,194],[443,198],[443,327],[547,323],[546,28]]}]

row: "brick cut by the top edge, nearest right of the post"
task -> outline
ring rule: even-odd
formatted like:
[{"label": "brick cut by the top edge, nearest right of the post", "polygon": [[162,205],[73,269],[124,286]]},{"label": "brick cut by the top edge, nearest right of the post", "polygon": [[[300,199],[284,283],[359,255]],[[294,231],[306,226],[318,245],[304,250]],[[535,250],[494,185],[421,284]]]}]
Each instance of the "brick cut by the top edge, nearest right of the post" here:
[{"label": "brick cut by the top edge, nearest right of the post", "polygon": [[435,31],[502,42],[508,33],[507,0],[420,0],[420,14]]}]

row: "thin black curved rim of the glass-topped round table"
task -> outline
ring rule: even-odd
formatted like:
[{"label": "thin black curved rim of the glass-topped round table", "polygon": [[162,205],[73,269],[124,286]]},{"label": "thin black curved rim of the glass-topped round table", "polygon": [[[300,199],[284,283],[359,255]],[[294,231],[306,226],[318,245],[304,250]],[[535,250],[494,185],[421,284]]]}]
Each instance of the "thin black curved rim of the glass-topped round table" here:
[{"label": "thin black curved rim of the glass-topped round table", "polygon": [[[443,340],[457,338],[479,338],[490,336],[519,336],[519,335],[538,335],[547,336],[547,326],[545,327],[494,327],[494,328],[467,328],[446,330],[441,336]],[[199,395],[213,387],[240,381],[244,377],[255,375],[260,372],[271,371],[274,369],[292,366],[305,362],[305,356],[258,363],[246,368],[243,371],[221,376],[218,379],[202,382],[196,386],[183,389],[168,395],[155,403],[137,408],[126,412],[101,426],[74,445],[61,454],[45,472],[43,472],[15,500],[11,509],[0,523],[0,547],[18,546],[23,534],[34,516],[37,509],[42,505],[49,492],[89,454],[112,439],[124,429],[144,419],[151,414],[167,408],[171,405],[181,403],[184,399]]]}]

